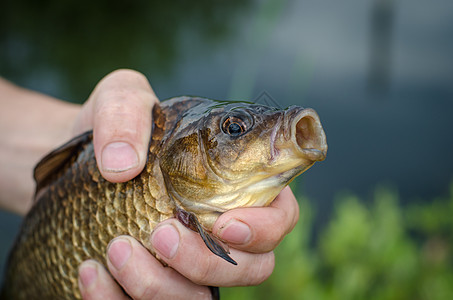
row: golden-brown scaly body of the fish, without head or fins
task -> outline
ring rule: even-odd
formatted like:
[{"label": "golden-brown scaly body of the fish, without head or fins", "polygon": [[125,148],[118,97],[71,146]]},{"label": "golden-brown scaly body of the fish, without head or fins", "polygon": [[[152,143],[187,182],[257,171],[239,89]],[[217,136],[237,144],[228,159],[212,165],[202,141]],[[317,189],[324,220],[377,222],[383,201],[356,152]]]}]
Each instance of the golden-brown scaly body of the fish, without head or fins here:
[{"label": "golden-brown scaly body of the fish, without head or fins", "polygon": [[[62,295],[80,299],[77,281],[80,263],[92,258],[105,265],[108,243],[123,234],[149,247],[149,236],[158,222],[147,220],[161,221],[172,216],[163,215],[150,206],[156,199],[150,192],[144,195],[143,178],[152,176],[146,170],[134,180],[114,184],[105,181],[95,167],[92,144],[78,155],[78,164],[61,175],[72,180],[58,180],[51,185],[42,196],[49,200],[37,202],[29,214],[31,217],[25,219],[22,227],[34,230],[22,232],[24,242],[16,245],[14,255],[22,259],[11,260],[7,275],[7,280],[15,278],[14,284],[7,283],[7,286],[16,299],[56,299]],[[81,168],[84,165],[86,167]],[[60,181],[64,184],[60,185]],[[71,195],[73,190],[80,194]],[[96,201],[99,198],[107,201]],[[36,251],[30,252],[30,249]],[[28,268],[27,261],[37,262],[36,270]],[[15,270],[20,276],[14,274]],[[33,282],[55,289],[33,288]],[[30,285],[32,287],[28,288]]]}]

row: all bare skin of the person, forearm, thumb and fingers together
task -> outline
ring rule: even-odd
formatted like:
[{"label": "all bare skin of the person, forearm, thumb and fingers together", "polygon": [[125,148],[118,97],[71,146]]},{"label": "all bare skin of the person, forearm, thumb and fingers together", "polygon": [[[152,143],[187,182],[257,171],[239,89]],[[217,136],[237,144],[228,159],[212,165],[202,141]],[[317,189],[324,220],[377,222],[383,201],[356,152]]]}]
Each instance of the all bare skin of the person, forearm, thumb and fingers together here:
[{"label": "all bare skin of the person, forearm, thumb and fingers together", "polygon": [[[32,170],[47,152],[76,134],[94,131],[102,176],[134,178],[146,163],[151,108],[158,102],[147,79],[117,70],[102,79],[83,106],[19,88],[0,78],[0,207],[24,215],[31,206]],[[274,268],[273,250],[295,226],[297,201],[285,188],[269,207],[222,214],[214,235],[228,242],[237,266],[212,254],[197,234],[175,219],[153,231],[163,266],[130,236],[113,239],[107,270],[88,260],[79,268],[84,299],[210,299],[206,286],[257,285]],[[124,293],[124,291],[127,295]]]}]

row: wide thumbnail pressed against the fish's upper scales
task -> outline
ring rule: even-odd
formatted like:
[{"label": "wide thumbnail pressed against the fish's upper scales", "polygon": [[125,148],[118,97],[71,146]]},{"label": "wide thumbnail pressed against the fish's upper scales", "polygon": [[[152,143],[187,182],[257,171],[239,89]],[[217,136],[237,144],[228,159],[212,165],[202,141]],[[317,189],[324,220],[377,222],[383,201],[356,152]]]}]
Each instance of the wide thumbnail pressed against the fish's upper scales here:
[{"label": "wide thumbnail pressed against the fish's upper scales", "polygon": [[123,172],[138,165],[138,155],[128,143],[114,142],[102,150],[101,162],[104,171]]}]

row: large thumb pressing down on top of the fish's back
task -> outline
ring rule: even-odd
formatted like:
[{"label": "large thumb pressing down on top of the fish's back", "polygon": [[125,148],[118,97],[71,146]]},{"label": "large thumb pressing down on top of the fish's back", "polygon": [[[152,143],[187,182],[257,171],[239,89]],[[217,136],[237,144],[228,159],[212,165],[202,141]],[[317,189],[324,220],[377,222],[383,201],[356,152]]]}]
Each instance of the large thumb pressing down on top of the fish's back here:
[{"label": "large thumb pressing down on top of the fish's back", "polygon": [[151,135],[151,111],[158,99],[145,76],[118,70],[96,86],[76,122],[93,129],[102,176],[111,182],[132,179],[143,169]]}]

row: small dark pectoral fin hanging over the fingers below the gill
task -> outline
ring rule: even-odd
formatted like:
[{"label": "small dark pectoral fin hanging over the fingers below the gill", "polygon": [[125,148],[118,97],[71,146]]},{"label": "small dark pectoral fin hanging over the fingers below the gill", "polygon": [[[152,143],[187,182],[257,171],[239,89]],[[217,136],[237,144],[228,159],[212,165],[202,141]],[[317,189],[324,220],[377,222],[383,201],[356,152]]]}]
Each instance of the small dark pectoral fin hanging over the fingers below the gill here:
[{"label": "small dark pectoral fin hanging over the fingers below the gill", "polygon": [[233,265],[237,265],[237,262],[228,255],[230,253],[228,246],[206,231],[193,213],[178,208],[176,217],[182,224],[184,224],[184,226],[198,232],[212,253],[220,256]]}]

